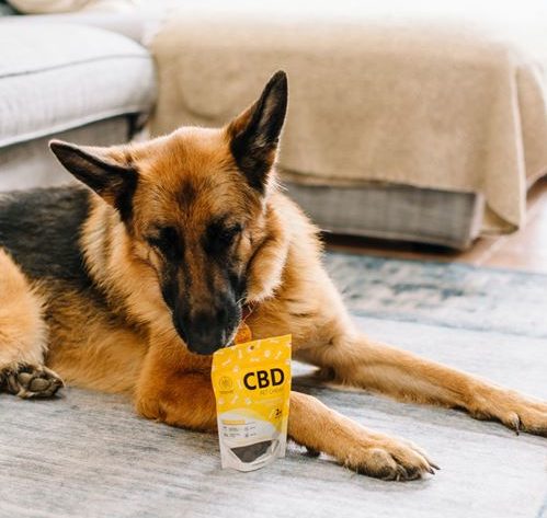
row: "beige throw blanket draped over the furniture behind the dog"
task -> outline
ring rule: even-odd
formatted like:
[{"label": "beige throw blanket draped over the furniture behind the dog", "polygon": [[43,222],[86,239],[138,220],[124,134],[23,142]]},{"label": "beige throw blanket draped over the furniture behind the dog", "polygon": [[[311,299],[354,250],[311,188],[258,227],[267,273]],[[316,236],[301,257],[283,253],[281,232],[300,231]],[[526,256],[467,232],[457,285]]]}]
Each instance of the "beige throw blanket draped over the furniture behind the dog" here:
[{"label": "beige throw blanket draped over the furniture behind the dog", "polygon": [[189,2],[152,43],[153,134],[224,124],[282,68],[280,165],[293,180],[477,192],[485,231],[523,225],[547,171],[547,18],[208,5]]}]

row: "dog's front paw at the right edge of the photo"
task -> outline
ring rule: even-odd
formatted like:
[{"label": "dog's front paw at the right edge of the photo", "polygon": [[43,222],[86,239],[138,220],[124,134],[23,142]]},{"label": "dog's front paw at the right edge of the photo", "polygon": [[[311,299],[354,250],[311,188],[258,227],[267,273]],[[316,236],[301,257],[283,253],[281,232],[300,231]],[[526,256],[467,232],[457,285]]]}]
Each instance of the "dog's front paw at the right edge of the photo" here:
[{"label": "dog's front paw at the right edge of the photo", "polygon": [[476,395],[470,414],[498,419],[511,429],[547,437],[547,403],[518,392],[489,388]]}]

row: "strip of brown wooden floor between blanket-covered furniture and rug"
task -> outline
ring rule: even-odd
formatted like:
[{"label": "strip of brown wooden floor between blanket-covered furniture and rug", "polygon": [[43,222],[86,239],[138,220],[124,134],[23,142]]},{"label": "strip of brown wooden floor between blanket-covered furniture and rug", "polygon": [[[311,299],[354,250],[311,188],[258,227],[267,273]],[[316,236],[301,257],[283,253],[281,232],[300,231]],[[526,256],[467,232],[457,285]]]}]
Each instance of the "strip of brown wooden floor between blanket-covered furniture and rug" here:
[{"label": "strip of brown wooden floor between blanket-covered furniture and rug", "polygon": [[524,229],[510,235],[480,238],[466,252],[442,246],[326,235],[331,250],[396,258],[433,260],[469,263],[476,266],[515,268],[547,274],[547,177],[528,193],[528,221]]}]

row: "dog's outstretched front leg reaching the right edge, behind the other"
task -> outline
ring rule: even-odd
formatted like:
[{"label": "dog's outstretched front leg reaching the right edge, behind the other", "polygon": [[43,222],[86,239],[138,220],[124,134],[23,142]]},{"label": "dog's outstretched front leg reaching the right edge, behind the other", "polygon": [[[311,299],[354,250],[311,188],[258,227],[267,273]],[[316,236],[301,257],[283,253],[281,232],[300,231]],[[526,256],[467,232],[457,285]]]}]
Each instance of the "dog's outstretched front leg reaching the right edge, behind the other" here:
[{"label": "dog's outstretched front leg reaching the right edge, behind the other", "polygon": [[547,436],[547,403],[492,382],[378,344],[351,330],[300,358],[332,369],[344,383],[403,401],[464,408],[479,419],[498,419],[515,430]]}]

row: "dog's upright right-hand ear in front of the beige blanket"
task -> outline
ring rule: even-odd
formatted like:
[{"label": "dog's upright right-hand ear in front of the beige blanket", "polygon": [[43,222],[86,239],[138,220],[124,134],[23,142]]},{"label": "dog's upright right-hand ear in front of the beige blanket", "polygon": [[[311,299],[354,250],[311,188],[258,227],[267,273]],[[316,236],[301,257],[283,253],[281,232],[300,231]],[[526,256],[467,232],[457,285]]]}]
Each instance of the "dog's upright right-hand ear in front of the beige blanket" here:
[{"label": "dog's upright right-hand ear in front of the beige blanket", "polygon": [[263,194],[287,112],[287,76],[276,72],[260,99],[228,125],[230,150],[249,184]]}]

